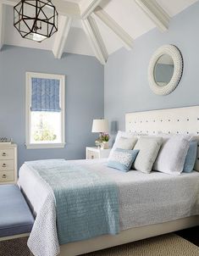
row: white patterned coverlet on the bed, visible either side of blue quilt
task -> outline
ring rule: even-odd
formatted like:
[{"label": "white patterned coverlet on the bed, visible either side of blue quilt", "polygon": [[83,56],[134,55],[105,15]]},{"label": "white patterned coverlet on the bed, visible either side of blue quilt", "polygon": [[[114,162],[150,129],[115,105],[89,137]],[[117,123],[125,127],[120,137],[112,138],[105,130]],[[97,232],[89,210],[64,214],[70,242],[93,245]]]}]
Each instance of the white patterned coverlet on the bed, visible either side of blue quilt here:
[{"label": "white patterned coverlet on the bed, visible either side of blue quilt", "polygon": [[[163,223],[199,214],[199,173],[167,175],[144,174],[132,170],[123,173],[106,166],[107,159],[75,160],[92,171],[109,175],[119,186],[120,229]],[[25,192],[36,215],[29,247],[36,256],[58,254],[58,237],[53,194],[49,186],[23,164],[19,186]]]}]

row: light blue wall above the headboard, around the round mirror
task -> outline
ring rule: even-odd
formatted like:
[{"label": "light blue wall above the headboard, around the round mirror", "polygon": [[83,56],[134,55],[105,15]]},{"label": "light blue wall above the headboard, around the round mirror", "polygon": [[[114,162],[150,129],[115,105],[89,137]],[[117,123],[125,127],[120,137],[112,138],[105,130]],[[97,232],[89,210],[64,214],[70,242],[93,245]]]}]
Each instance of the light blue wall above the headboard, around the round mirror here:
[{"label": "light blue wall above the headboard, around the round mirror", "polygon": [[[184,73],[179,86],[168,96],[158,96],[149,88],[147,68],[152,53],[163,44],[180,48]],[[199,104],[199,3],[171,20],[169,31],[153,29],[135,40],[128,52],[120,49],[108,58],[104,70],[105,117],[112,122],[112,137],[124,130],[124,114],[150,109],[166,109]]]}]

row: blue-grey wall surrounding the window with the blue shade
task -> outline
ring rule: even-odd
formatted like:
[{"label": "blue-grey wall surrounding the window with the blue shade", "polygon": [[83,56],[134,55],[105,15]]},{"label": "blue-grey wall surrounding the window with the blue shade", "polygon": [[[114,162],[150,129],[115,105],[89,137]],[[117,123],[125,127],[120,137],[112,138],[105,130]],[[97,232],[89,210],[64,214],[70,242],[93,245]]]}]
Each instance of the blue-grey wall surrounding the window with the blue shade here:
[{"label": "blue-grey wall surrounding the window with the blue shade", "polygon": [[[25,72],[66,75],[66,147],[25,148]],[[83,159],[85,147],[94,145],[92,120],[101,118],[103,67],[96,58],[65,54],[55,59],[48,51],[25,47],[3,47],[0,52],[0,136],[19,146],[19,166],[34,159]]]}]

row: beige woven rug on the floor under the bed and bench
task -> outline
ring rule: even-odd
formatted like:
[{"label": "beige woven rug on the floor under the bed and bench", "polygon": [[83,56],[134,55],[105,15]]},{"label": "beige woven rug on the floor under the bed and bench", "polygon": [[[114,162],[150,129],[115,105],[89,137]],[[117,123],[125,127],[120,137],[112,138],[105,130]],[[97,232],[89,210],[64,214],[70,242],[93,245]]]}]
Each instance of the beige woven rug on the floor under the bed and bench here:
[{"label": "beige woven rug on the floor under the bed and bench", "polygon": [[[26,242],[26,238],[0,242],[0,256],[30,256]],[[199,256],[199,248],[182,237],[168,234],[86,253],[84,256]]]}]

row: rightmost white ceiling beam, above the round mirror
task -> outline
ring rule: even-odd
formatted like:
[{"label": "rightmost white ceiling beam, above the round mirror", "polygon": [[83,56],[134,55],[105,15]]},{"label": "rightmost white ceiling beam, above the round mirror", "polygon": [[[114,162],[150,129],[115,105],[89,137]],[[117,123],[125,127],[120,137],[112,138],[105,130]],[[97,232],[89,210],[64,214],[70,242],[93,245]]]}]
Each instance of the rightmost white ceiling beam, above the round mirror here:
[{"label": "rightmost white ceiling beam, above the round mirror", "polygon": [[135,0],[146,15],[162,32],[168,31],[170,17],[155,0]]}]

